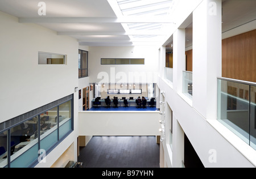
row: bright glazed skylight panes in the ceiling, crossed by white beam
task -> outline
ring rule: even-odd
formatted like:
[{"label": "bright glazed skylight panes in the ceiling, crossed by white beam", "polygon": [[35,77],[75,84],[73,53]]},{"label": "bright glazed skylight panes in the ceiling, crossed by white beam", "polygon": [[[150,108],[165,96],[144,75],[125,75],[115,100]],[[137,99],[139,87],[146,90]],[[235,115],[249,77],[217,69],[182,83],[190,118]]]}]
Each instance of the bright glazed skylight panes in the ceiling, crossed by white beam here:
[{"label": "bright glazed skylight panes in the ceiling, crossed by white beam", "polygon": [[[112,0],[109,0],[112,1]],[[175,0],[113,0],[116,1],[119,7],[118,17],[134,17],[138,18],[150,18],[155,16],[161,16],[165,18],[170,16],[172,6]],[[117,13],[116,13],[117,14]],[[162,23],[128,23],[122,24],[126,31],[140,31],[140,32],[152,32],[150,35],[133,35],[129,36],[131,41],[139,41],[144,39],[144,41],[155,41],[160,39],[159,32],[166,32],[165,27],[170,24]],[[163,36],[161,36],[163,37]]]}]

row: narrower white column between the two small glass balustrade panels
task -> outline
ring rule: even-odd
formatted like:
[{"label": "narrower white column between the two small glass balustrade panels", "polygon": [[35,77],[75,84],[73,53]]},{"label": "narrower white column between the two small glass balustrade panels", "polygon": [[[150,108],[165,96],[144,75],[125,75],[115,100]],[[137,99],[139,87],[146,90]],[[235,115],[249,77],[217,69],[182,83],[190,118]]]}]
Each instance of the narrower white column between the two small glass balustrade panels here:
[{"label": "narrower white column between the two small glass balustrade panels", "polygon": [[185,70],[185,29],[174,32],[174,90],[182,93]]}]

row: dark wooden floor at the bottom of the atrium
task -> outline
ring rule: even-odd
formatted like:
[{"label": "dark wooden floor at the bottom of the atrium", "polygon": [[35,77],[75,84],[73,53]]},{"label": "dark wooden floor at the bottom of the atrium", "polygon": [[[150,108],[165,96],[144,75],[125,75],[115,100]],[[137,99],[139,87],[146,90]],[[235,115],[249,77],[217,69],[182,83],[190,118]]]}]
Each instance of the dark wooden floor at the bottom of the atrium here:
[{"label": "dark wooden floor at the bottom of the atrium", "polygon": [[93,137],[80,148],[84,168],[159,168],[155,137]]}]

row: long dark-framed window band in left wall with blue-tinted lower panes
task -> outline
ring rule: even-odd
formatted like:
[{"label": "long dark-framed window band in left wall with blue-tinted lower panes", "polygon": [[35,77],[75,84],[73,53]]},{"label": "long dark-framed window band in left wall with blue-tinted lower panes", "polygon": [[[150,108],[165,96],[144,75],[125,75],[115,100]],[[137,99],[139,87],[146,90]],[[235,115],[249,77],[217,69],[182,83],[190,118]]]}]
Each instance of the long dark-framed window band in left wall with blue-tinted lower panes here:
[{"label": "long dark-framed window band in left wall with blue-tinted lower panes", "polygon": [[[73,96],[72,96],[73,99]],[[45,112],[36,109],[17,117],[9,128],[0,133],[0,168],[28,168],[39,162],[39,150],[47,152],[61,142],[73,131],[73,100],[61,104],[53,102],[55,106],[49,110],[48,105],[42,107]],[[54,104],[54,105],[53,105]],[[29,117],[29,115],[31,115]],[[27,118],[27,120],[26,120]],[[23,120],[20,120],[23,119]],[[19,121],[20,120],[20,121]],[[9,152],[10,151],[10,152]]]}]

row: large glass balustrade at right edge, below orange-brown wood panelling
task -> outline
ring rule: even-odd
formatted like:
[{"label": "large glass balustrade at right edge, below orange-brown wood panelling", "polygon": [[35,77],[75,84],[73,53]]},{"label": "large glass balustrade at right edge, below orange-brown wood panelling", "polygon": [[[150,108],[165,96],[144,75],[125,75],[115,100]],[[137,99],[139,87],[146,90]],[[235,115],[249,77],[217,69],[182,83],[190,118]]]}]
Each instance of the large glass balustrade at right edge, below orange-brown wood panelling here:
[{"label": "large glass balustrade at right edge, below orange-brown wood panelling", "polygon": [[256,150],[253,83],[218,79],[218,120]]}]

